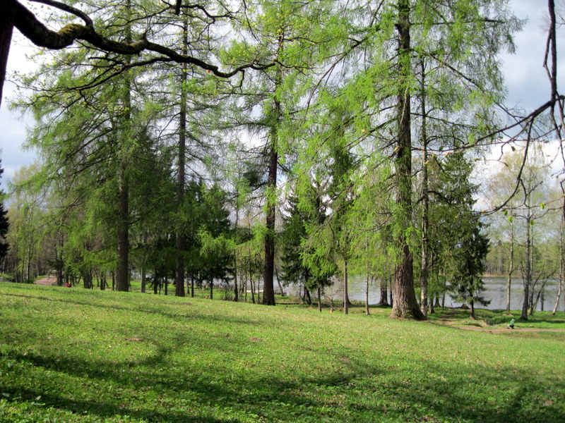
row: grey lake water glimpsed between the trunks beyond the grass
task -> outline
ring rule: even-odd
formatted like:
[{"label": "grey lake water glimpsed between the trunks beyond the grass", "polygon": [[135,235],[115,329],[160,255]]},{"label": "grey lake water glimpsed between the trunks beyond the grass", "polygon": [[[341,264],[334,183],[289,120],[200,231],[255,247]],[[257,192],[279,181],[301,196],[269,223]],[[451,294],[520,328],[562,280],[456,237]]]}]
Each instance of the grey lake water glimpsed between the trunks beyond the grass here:
[{"label": "grey lake water glimpsed between the trunks beyond the grass", "polygon": [[[490,300],[490,304],[487,307],[482,305],[477,305],[477,307],[487,308],[487,309],[506,309],[506,278],[500,277],[484,277],[484,292],[482,295],[485,299]],[[297,294],[298,287],[289,287],[291,293]],[[286,290],[289,290],[286,288]],[[535,287],[535,295],[539,287]],[[555,306],[555,301],[557,300],[557,291],[559,286],[557,281],[548,281],[545,285],[544,290],[544,309],[552,310]],[[365,281],[363,278],[353,277],[350,278],[349,286],[349,298],[352,301],[363,301],[365,300]],[[333,298],[334,300],[342,300],[343,298],[343,288],[341,283],[335,283],[330,288],[326,288],[326,298]],[[511,309],[521,309],[523,302],[523,280],[521,278],[512,278],[512,292],[510,298],[510,308]],[[314,293],[312,293],[314,295]],[[314,298],[312,298],[314,300]],[[377,304],[381,300],[381,289],[378,283],[374,285],[369,285],[369,304]],[[441,301],[440,301],[441,302]],[[561,295],[561,300],[559,302],[558,311],[564,311],[565,308],[565,295]],[[461,303],[453,301],[453,299],[446,295],[446,307],[460,307]],[[541,299],[537,302],[536,309],[540,311],[542,309]]]}]

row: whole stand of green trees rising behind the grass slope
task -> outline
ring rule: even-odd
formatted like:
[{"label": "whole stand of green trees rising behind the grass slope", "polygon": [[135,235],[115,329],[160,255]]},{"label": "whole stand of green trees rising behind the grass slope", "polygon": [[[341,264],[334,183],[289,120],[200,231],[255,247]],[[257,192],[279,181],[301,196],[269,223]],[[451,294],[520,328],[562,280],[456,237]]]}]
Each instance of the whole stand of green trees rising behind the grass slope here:
[{"label": "whole stand of green trees rising behind the grass slope", "polygon": [[[38,3],[54,13],[9,0],[2,18],[47,47],[14,76],[41,157],[5,203],[16,281],[126,291],[136,271],[143,289],[222,281],[241,300],[260,279],[275,305],[280,271],[319,299],[338,277],[347,312],[362,274],[391,290],[391,317],[424,319],[446,290],[486,302],[488,267],[509,290],[523,275],[527,319],[562,279],[541,147],[564,121],[553,1],[552,93],[530,114],[504,106],[498,55],[521,22],[502,0]],[[501,168],[477,182],[492,148]]]}]

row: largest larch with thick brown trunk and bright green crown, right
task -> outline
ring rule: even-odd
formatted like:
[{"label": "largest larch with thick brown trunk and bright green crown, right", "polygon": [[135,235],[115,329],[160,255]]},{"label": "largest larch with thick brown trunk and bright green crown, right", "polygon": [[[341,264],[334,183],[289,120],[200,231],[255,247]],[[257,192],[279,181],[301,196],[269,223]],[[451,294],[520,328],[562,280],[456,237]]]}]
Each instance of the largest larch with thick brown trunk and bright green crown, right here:
[{"label": "largest larch with thick brown trunk and bright green crown, right", "polygon": [[[435,142],[428,142],[427,150],[433,148],[436,154],[446,147],[468,149],[492,140],[491,111],[502,92],[496,55],[511,47],[510,33],[518,23],[509,16],[506,2],[498,0],[396,0],[364,7],[366,18],[352,20],[356,36],[349,39],[343,59],[347,81],[342,85],[348,87],[343,103],[355,116],[352,126],[357,132],[351,142],[372,144],[372,151],[394,165],[392,233],[398,254],[391,317],[424,319],[415,298],[413,270],[419,237],[413,220],[412,137],[422,126],[428,128],[424,137]],[[429,69],[425,79],[422,62]],[[451,103],[447,95],[442,101],[428,100],[441,97],[434,93],[436,80],[451,84]],[[422,85],[425,95],[418,95]],[[423,99],[430,106],[422,109]],[[432,131],[431,121],[446,124]],[[459,128],[457,139],[448,140],[453,128]]]}]

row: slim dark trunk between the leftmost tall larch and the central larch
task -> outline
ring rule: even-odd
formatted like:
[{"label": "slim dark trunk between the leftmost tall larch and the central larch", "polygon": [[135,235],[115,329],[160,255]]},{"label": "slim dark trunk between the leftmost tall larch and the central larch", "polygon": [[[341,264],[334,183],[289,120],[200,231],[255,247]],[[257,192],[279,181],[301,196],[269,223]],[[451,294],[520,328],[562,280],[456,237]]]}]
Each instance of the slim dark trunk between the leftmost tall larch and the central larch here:
[{"label": "slim dark trunk between the leftmost tall larch and the central larch", "polygon": [[[184,16],[182,25],[182,54],[188,54],[189,49],[189,24],[188,17]],[[179,209],[184,203],[184,184],[186,183],[185,177],[185,154],[186,154],[186,74],[188,73],[188,65],[182,63],[181,66],[181,104],[179,113],[179,158],[177,168],[177,204]],[[186,237],[184,235],[184,228],[177,227],[177,263],[174,271],[174,295],[177,297],[184,297],[184,250],[186,249]]]}]

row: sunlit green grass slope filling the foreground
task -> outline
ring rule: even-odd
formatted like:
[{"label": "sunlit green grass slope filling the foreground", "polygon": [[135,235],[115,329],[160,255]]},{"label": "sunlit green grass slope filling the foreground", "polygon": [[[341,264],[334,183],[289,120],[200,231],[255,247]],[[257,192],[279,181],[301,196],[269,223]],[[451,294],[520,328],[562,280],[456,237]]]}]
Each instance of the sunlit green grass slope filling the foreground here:
[{"label": "sunlit green grass slope filling the foreground", "polygon": [[0,283],[0,422],[565,421],[562,333],[353,311]]}]

